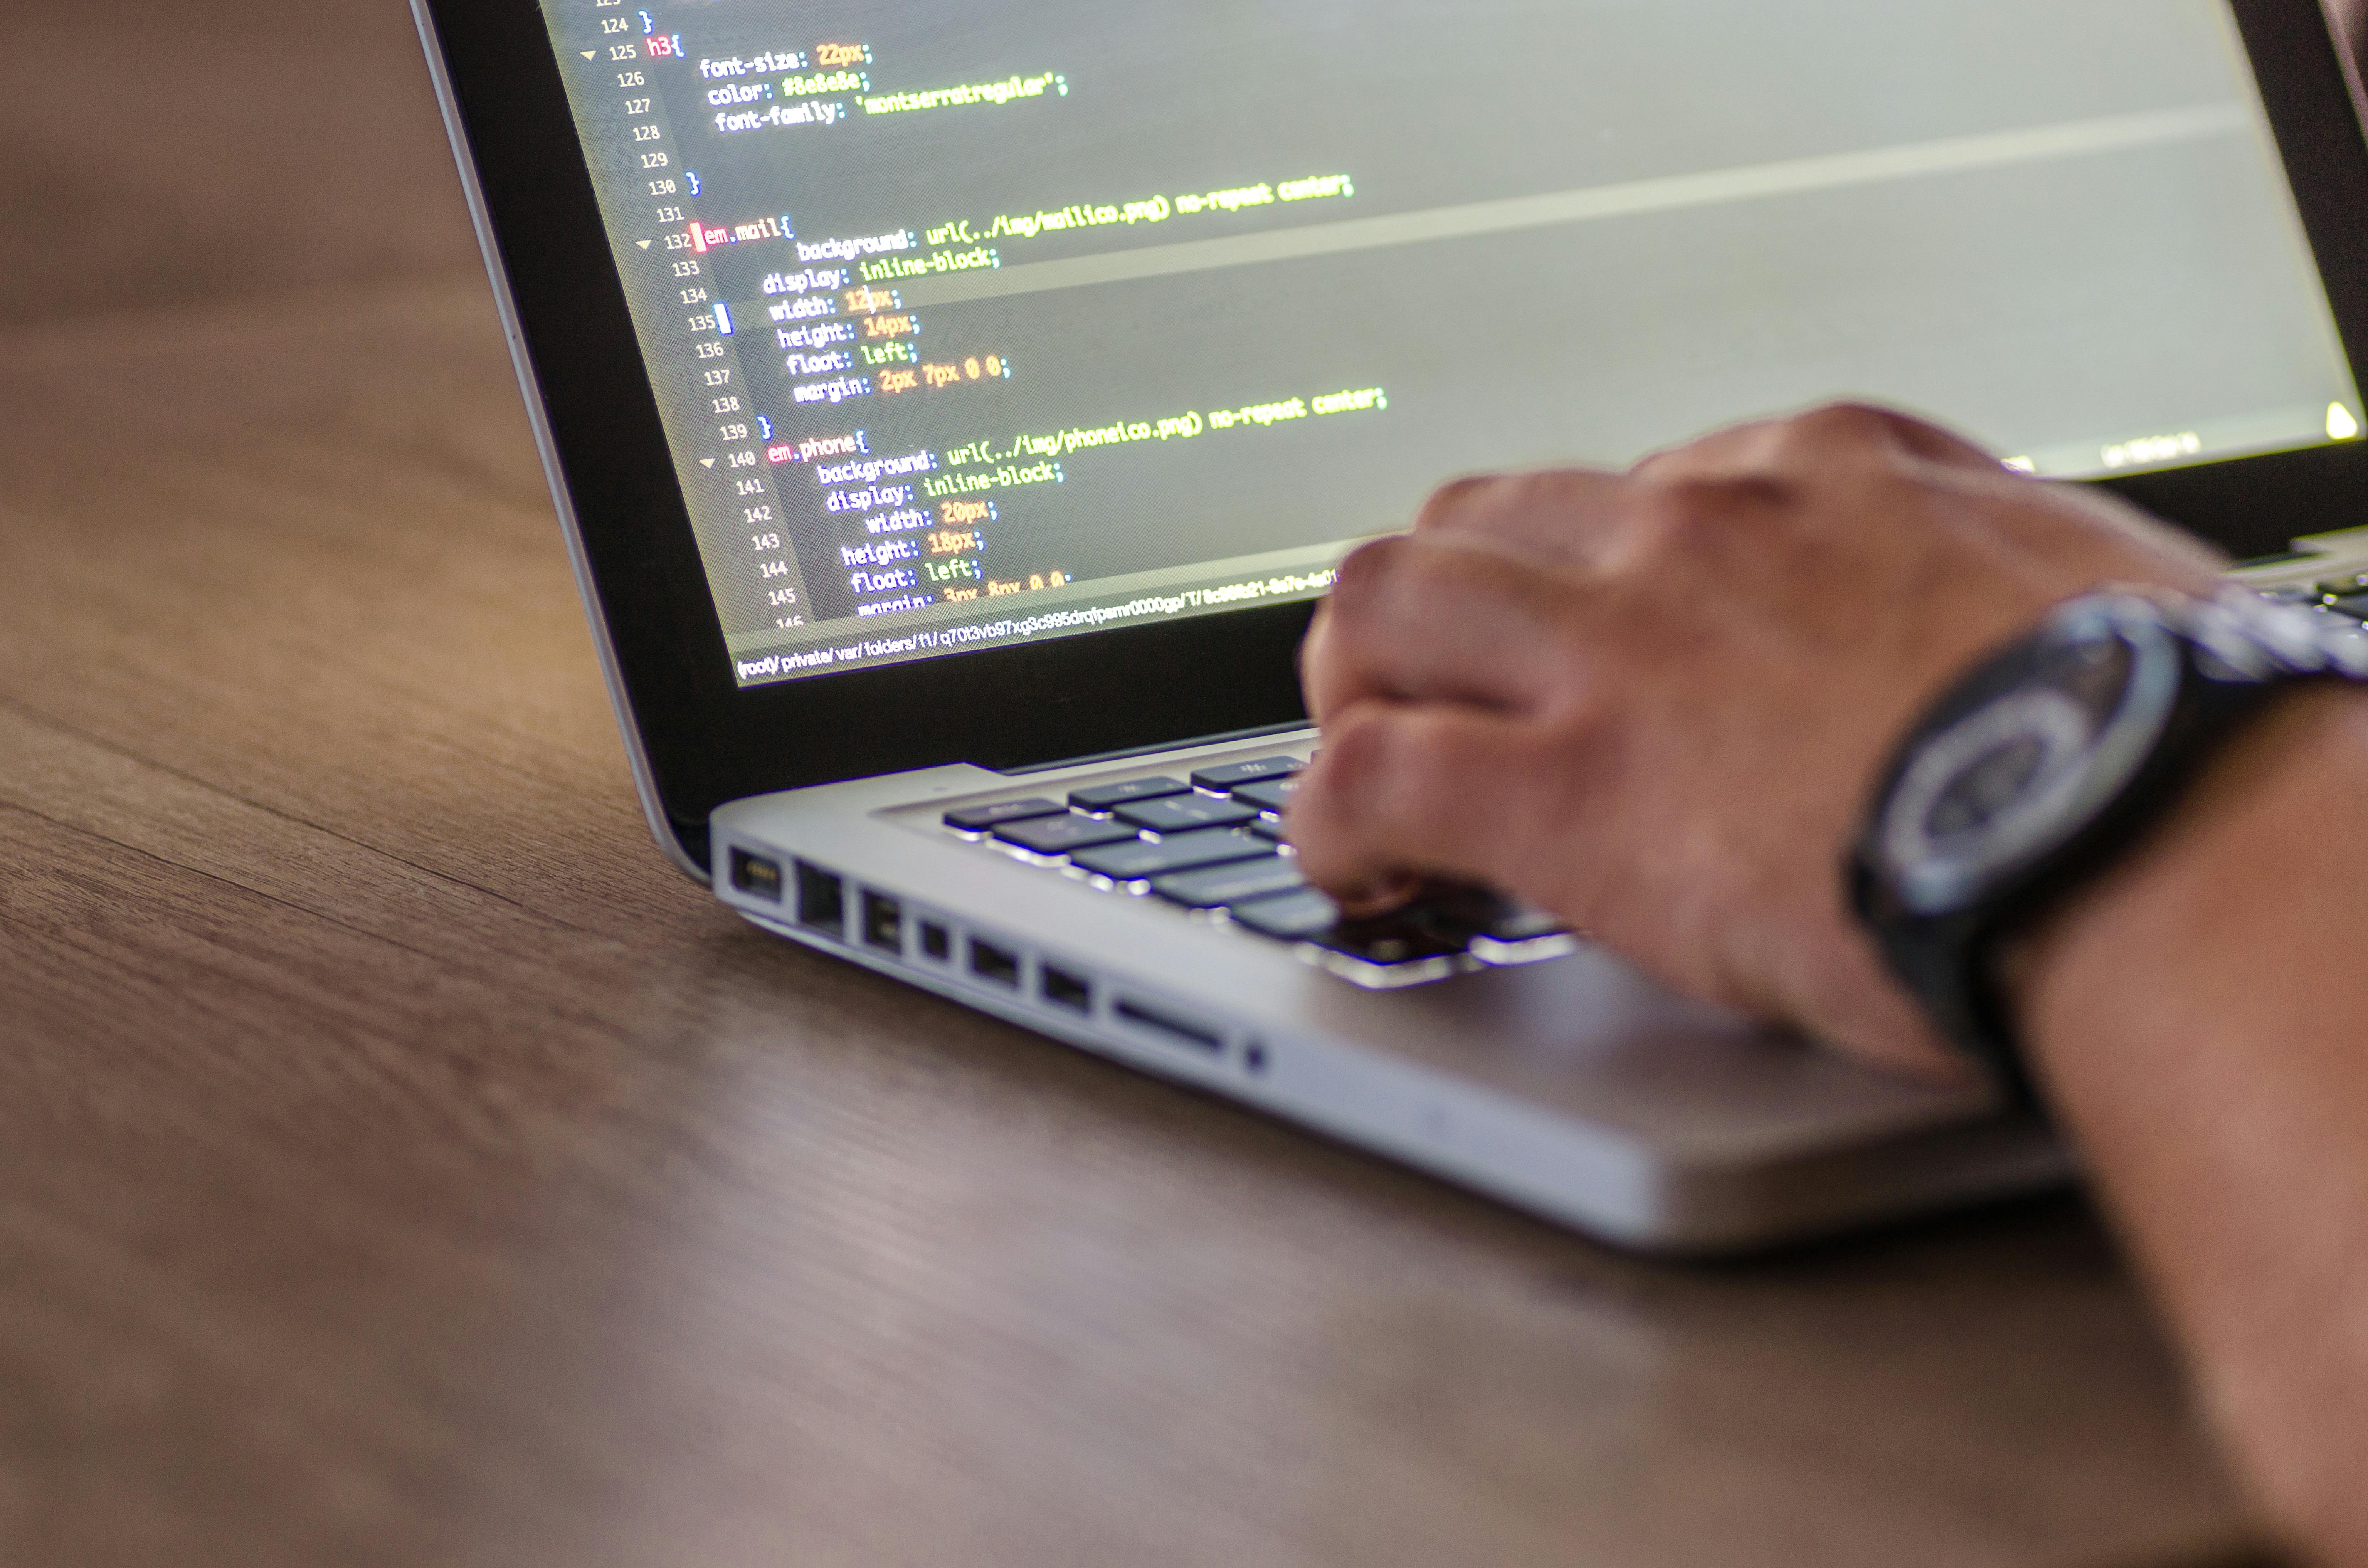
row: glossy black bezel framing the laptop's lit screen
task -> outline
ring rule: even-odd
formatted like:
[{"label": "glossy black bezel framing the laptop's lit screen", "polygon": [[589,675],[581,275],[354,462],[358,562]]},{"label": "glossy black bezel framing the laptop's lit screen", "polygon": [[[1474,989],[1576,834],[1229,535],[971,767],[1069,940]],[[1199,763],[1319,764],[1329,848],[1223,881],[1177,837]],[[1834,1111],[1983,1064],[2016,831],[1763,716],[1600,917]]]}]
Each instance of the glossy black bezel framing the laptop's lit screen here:
[{"label": "glossy black bezel framing the laptop's lit screen", "polygon": [[[1305,720],[1310,604],[741,689],[538,0],[414,0],[540,398],[620,696],[691,860],[713,808],[942,763],[1014,770]],[[2368,365],[2368,140],[2316,0],[2231,0],[2344,346]],[[2344,130],[2347,135],[2337,135]],[[1750,410],[1736,410],[1738,415]],[[1444,474],[1442,474],[1444,478]],[[2238,557],[2342,526],[2368,443],[2112,481]]]}]

